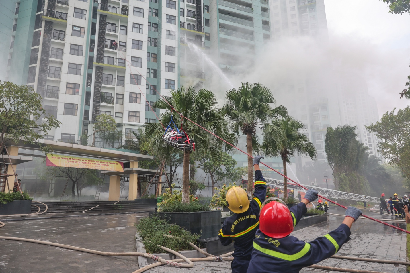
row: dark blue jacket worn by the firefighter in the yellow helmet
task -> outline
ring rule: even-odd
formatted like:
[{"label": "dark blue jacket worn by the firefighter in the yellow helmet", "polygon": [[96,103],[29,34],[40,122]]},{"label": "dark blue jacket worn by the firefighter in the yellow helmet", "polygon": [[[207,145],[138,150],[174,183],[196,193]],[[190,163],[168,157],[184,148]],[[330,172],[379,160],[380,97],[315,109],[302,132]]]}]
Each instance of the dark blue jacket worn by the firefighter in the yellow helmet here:
[{"label": "dark blue jacket worn by the firefighter in the yellow helmet", "polygon": [[219,231],[224,246],[234,242],[235,259],[250,260],[255,232],[259,227],[259,212],[266,197],[266,180],[261,171],[255,171],[255,191],[246,212],[230,216]]}]

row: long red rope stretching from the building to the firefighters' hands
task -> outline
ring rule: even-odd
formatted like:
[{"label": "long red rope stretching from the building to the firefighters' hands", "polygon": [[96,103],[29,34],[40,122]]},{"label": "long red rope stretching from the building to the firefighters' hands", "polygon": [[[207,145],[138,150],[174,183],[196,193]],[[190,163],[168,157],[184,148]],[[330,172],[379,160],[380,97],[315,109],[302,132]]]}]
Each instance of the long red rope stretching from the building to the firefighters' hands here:
[{"label": "long red rope stretching from the building to the firefighters' hands", "polygon": [[[127,63],[129,63],[128,59],[125,58],[125,60],[127,60]],[[130,65],[128,64],[128,66],[130,66]],[[131,68],[130,68],[130,69],[131,69]],[[146,80],[146,78],[144,77],[144,75],[142,75],[142,74],[137,70],[137,68],[135,68],[135,70],[139,73],[139,75],[141,75],[141,77],[142,77],[144,80]],[[132,77],[134,77],[134,76],[132,76]],[[229,142],[226,141],[225,139],[222,139],[221,137],[219,137],[219,136],[217,136],[216,134],[212,133],[210,130],[205,129],[204,127],[202,127],[202,126],[199,125],[198,123],[196,123],[196,122],[194,122],[194,121],[191,121],[189,118],[187,118],[186,116],[182,115],[182,114],[181,114],[180,112],[178,112],[167,100],[164,99],[164,97],[154,88],[154,86],[152,86],[147,80],[146,80],[146,82],[155,90],[155,92],[157,92],[157,94],[159,94],[159,96],[171,107],[171,109],[173,109],[175,112],[177,112],[182,118],[185,118],[187,121],[190,121],[191,123],[194,123],[195,125],[197,125],[198,127],[202,128],[203,130],[207,131],[208,133],[212,134],[213,136],[216,136],[218,139],[221,139],[221,140],[222,140],[223,142],[225,142],[226,144],[232,146],[233,148],[239,150],[240,152],[243,152],[243,153],[244,153],[245,155],[247,155],[248,157],[254,158],[252,155],[249,155],[247,152],[244,152],[243,150],[239,149],[238,147],[236,147],[236,146],[233,145],[232,143],[229,143]],[[138,86],[138,85],[137,85],[137,86]],[[139,88],[139,86],[138,86],[138,88]],[[140,91],[141,91],[141,88],[139,88],[139,89],[140,89]],[[142,92],[141,92],[141,93],[142,93]],[[145,96],[144,96],[144,98],[145,98]],[[146,100],[146,98],[145,98],[145,100]],[[146,101],[147,101],[147,100],[146,100]],[[148,101],[147,101],[147,102],[148,102]],[[148,102],[148,105],[149,105],[149,102]],[[151,108],[151,110],[152,110],[152,108]],[[157,116],[157,115],[155,114],[155,116]],[[157,117],[157,118],[158,118],[158,117]],[[158,121],[159,121],[159,119],[158,119]],[[161,121],[159,121],[159,122],[161,123]],[[162,125],[162,123],[161,123],[161,125]],[[164,127],[164,125],[162,125],[162,127]],[[164,127],[164,129],[165,129],[165,127]],[[308,190],[306,187],[302,186],[302,185],[299,184],[298,182],[296,182],[296,181],[290,179],[289,177],[287,177],[286,175],[283,175],[282,173],[276,171],[276,170],[275,170],[274,168],[272,168],[271,166],[266,165],[266,164],[263,163],[263,162],[260,162],[260,163],[263,164],[264,166],[270,168],[272,171],[278,173],[279,175],[282,175],[282,176],[285,177],[287,180],[294,182],[294,183],[295,183],[296,185],[298,185],[299,187],[301,187],[301,188],[303,188],[303,189],[305,189],[305,190]],[[248,179],[249,179],[249,177],[248,177]],[[333,200],[330,200],[330,199],[328,199],[328,198],[326,198],[326,197],[324,197],[324,196],[321,196],[321,195],[319,195],[319,194],[318,194],[317,196],[320,197],[320,198],[322,198],[322,199],[324,199],[324,200],[328,200],[329,202],[331,202],[331,203],[333,203],[333,204],[335,204],[335,205],[338,205],[339,207],[342,207],[342,208],[344,208],[344,209],[347,209],[347,207],[345,207],[344,205],[339,204],[339,203],[337,203],[337,202],[335,202],[335,201],[333,201]],[[390,225],[389,223],[382,222],[382,221],[380,221],[380,220],[377,220],[377,219],[375,219],[375,218],[372,218],[372,217],[367,216],[367,215],[364,215],[364,214],[362,214],[362,216],[363,216],[363,217],[366,217],[366,218],[369,218],[370,220],[376,221],[376,222],[378,222],[378,223],[381,223],[381,224],[383,224],[383,225],[387,225],[387,226],[389,226],[389,227],[393,227],[393,228],[395,228],[396,230],[400,230],[400,231],[402,231],[402,232],[405,232],[405,233],[410,234],[409,231],[403,230],[403,229],[400,228],[400,227],[396,227],[396,226],[394,226],[394,225]]]}]

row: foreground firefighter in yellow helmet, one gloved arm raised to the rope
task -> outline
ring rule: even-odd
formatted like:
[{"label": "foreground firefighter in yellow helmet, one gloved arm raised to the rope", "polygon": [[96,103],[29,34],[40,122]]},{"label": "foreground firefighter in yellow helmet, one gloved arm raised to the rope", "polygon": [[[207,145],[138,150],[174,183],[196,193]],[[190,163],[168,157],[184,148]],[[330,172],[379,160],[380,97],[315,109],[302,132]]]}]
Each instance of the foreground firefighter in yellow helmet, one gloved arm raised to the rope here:
[{"label": "foreground firefighter in yellow helmet, one gloved arm raised to the rope", "polygon": [[253,199],[241,187],[232,187],[226,192],[228,208],[235,213],[223,223],[219,239],[223,246],[234,242],[235,259],[231,263],[232,273],[246,273],[253,249],[253,239],[259,228],[259,212],[266,197],[266,181],[259,168],[260,155],[253,159],[255,168],[255,192]]}]

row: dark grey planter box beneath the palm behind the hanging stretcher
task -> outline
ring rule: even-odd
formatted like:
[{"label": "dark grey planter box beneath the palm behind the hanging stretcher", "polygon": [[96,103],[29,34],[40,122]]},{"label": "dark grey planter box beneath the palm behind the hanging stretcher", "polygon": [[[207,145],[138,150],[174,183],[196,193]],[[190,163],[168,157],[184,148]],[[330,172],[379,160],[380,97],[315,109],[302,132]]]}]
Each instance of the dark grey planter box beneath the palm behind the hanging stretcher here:
[{"label": "dark grey planter box beneath the palm behind the hanging stretcher", "polygon": [[209,210],[206,212],[150,212],[149,216],[157,215],[171,224],[177,224],[191,234],[202,230],[202,239],[218,236],[221,229],[221,211]]}]

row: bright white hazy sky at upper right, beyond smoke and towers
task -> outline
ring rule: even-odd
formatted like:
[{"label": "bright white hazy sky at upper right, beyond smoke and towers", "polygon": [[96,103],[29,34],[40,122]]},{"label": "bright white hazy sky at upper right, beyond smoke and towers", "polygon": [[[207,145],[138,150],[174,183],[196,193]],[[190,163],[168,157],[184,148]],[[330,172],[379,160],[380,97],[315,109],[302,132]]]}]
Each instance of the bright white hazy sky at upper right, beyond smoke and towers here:
[{"label": "bright white hazy sky at upper right, beyond smoke and towers", "polygon": [[324,1],[330,40],[348,39],[369,48],[360,58],[370,64],[365,76],[380,116],[409,105],[398,93],[410,74],[410,14],[389,14],[380,0]]}]

